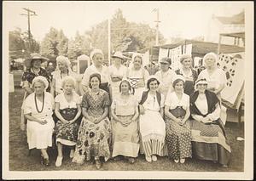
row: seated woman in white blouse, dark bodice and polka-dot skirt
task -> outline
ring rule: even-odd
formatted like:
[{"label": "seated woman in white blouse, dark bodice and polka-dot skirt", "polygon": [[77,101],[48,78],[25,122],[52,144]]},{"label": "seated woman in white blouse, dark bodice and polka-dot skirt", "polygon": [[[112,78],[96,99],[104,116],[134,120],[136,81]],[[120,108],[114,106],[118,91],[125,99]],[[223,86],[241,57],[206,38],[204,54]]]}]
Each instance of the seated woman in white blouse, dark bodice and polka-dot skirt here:
[{"label": "seated woman in white blouse, dark bodice and polka-dot skirt", "polygon": [[189,127],[189,95],[183,93],[185,79],[178,75],[173,79],[174,92],[166,97],[166,144],[168,156],[176,163],[191,157],[191,132]]}]

